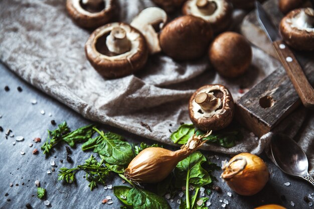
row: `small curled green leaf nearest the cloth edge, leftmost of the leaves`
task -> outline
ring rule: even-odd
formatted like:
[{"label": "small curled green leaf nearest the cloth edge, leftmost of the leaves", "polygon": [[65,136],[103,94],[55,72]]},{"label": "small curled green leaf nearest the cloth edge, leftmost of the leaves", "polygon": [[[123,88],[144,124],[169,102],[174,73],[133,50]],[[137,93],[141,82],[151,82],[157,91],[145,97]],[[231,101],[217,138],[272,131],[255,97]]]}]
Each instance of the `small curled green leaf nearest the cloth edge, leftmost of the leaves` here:
[{"label": "small curled green leaf nearest the cloth edge, leftmost of the leaves", "polygon": [[76,142],[87,141],[93,135],[95,132],[95,130],[92,129],[93,126],[94,125],[91,124],[78,128],[75,131],[64,135],[62,140],[67,142],[71,147],[74,147]]}]

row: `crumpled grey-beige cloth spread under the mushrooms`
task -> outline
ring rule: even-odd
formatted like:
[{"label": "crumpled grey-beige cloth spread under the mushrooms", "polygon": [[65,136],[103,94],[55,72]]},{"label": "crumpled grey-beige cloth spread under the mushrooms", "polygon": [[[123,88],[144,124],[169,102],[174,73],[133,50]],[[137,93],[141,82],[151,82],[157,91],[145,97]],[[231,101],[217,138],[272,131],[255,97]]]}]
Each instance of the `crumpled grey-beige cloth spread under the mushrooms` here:
[{"label": "crumpled grey-beige cloth spread under the mushrooms", "polygon": [[[153,6],[140,0],[120,0],[119,4],[120,20],[126,23],[142,9]],[[236,12],[234,16],[241,15]],[[168,144],[173,144],[169,137],[181,122],[191,123],[188,100],[197,88],[219,83],[227,86],[237,100],[242,95],[240,86],[249,89],[281,68],[278,61],[252,47],[251,67],[233,80],[220,77],[207,56],[194,62],[175,62],[164,54],[150,56],[136,75],[106,80],[85,57],[84,44],[90,32],[72,22],[64,0],[1,1],[0,34],[0,59],[25,81],[88,119]],[[306,113],[296,114],[298,120],[293,115],[285,119],[294,123],[294,135]],[[299,133],[304,139],[310,135],[300,141],[302,147],[309,147],[307,143],[312,141],[312,124],[311,118]],[[269,144],[269,137],[258,139],[246,130],[243,133],[243,140],[232,148],[206,144],[203,149],[259,154]]]}]

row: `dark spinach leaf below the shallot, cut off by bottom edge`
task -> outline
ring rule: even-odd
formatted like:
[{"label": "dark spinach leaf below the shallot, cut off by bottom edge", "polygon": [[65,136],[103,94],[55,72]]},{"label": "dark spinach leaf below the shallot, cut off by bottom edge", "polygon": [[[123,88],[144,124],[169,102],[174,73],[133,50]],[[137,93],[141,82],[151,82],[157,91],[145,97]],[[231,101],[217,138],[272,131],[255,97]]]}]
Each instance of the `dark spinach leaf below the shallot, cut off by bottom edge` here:
[{"label": "dark spinach leaf below the shallot, cut off by bottom edge", "polygon": [[165,198],[137,187],[129,190],[127,202],[132,202],[134,209],[171,209]]}]

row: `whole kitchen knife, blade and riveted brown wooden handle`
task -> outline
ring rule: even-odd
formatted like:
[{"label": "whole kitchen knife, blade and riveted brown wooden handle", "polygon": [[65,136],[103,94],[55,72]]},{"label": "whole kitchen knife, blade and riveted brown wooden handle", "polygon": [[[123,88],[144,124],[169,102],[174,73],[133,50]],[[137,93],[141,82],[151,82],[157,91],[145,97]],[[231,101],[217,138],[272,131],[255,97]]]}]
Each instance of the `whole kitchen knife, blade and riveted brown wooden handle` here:
[{"label": "whole kitchen knife, blade and riveted brown wooden handle", "polygon": [[314,89],[309,84],[300,64],[289,47],[282,41],[279,30],[259,2],[255,2],[256,18],[281,61],[288,77],[290,78],[297,94],[306,108],[314,109]]}]

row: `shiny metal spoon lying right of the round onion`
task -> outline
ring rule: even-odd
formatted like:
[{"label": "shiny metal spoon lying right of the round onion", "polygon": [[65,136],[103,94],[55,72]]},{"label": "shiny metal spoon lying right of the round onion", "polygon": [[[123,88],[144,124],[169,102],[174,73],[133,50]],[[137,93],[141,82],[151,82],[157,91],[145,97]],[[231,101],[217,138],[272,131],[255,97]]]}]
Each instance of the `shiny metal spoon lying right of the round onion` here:
[{"label": "shiny metal spoon lying right of the round onion", "polygon": [[293,139],[276,133],[271,138],[270,148],[276,164],[283,172],[303,178],[314,186],[314,179],[307,171],[307,157]]}]

